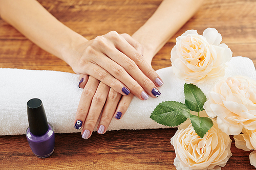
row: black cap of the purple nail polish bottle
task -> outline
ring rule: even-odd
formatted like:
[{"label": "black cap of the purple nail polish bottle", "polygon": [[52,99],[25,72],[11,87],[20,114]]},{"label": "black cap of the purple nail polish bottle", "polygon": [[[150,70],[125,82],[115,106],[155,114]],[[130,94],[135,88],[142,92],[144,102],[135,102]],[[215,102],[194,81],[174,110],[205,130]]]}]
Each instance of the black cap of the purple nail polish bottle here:
[{"label": "black cap of the purple nail polish bottle", "polygon": [[33,135],[41,136],[49,129],[46,112],[40,99],[31,99],[27,103],[29,129]]}]

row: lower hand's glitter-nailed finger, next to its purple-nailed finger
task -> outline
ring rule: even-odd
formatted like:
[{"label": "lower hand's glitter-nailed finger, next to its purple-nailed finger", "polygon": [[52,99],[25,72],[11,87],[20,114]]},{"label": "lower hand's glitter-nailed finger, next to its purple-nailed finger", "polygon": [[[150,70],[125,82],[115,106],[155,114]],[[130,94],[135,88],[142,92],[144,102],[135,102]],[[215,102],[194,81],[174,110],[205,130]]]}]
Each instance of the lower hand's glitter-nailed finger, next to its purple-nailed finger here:
[{"label": "lower hand's glitter-nailed finger, next to its purple-nailed finger", "polygon": [[99,134],[104,134],[108,129],[121,96],[122,95],[116,92],[115,90],[113,90],[113,88],[110,89],[108,98],[106,99],[106,103],[104,105],[104,109],[101,114],[99,125],[97,127],[97,132]]}]

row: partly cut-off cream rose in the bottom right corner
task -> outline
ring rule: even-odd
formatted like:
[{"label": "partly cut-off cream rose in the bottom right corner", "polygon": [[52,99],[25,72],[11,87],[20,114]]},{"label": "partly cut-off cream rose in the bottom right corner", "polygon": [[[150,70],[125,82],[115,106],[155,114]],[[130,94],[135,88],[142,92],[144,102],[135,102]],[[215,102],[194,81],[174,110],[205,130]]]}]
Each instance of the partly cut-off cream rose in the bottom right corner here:
[{"label": "partly cut-off cream rose in the bottom right corner", "polygon": [[[243,134],[234,136],[236,147],[245,151],[256,150],[256,129],[253,131],[243,129],[242,132]],[[251,152],[249,158],[251,165],[256,167],[256,151]]]}]

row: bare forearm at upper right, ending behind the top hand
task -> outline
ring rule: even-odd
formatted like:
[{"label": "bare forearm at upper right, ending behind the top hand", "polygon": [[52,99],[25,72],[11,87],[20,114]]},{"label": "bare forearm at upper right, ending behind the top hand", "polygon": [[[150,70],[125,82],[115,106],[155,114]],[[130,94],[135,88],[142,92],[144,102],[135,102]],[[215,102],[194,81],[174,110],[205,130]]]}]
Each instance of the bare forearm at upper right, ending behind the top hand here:
[{"label": "bare forearm at upper right, ending behind the top hand", "polygon": [[151,18],[132,35],[143,44],[144,57],[148,63],[202,3],[203,0],[164,0]]}]

